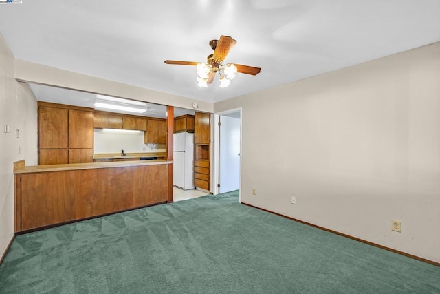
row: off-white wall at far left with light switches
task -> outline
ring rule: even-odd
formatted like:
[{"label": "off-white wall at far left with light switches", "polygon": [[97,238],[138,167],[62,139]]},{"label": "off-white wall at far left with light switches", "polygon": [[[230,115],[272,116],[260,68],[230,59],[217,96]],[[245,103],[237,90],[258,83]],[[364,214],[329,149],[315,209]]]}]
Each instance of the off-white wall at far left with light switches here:
[{"label": "off-white wall at far left with light switches", "polygon": [[[13,162],[37,162],[36,99],[14,79],[14,59],[0,34],[0,256],[14,235]],[[4,126],[11,132],[5,133]],[[16,138],[16,129],[19,138]]]}]

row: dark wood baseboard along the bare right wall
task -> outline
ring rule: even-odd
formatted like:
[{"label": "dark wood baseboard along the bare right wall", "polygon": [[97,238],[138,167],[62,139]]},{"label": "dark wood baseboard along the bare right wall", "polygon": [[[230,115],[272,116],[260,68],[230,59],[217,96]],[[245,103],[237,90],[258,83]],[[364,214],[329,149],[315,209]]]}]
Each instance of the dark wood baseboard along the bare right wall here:
[{"label": "dark wood baseboard along the bare right wall", "polygon": [[434,266],[440,266],[440,262],[434,262],[433,260],[428,260],[428,259],[426,259],[426,258],[421,258],[421,257],[419,257],[419,256],[417,256],[417,255],[412,255],[412,254],[409,254],[409,253],[406,253],[406,252],[403,252],[403,251],[399,251],[399,250],[396,250],[396,249],[392,249],[392,248],[390,248],[390,247],[382,246],[382,245],[380,245],[380,244],[376,244],[376,243],[369,242],[369,241],[366,241],[366,240],[363,240],[363,239],[360,239],[360,238],[356,238],[356,237],[353,237],[353,236],[351,236],[351,235],[347,235],[347,234],[344,234],[344,233],[340,233],[340,232],[338,232],[338,231],[333,231],[333,230],[331,230],[331,229],[327,229],[327,228],[325,228],[325,227],[317,226],[316,224],[311,224],[310,222],[305,222],[305,221],[303,221],[303,220],[298,220],[298,219],[296,219],[296,218],[291,218],[291,217],[289,217],[289,216],[283,216],[281,213],[276,213],[276,212],[274,212],[274,211],[270,211],[270,210],[267,210],[267,209],[263,209],[263,208],[261,208],[261,207],[256,207],[256,206],[254,206],[254,205],[252,205],[252,204],[248,204],[248,203],[244,203],[244,202],[241,202],[241,204],[245,204],[245,205],[248,206],[248,207],[253,207],[253,208],[256,208],[256,209],[260,209],[260,210],[262,210],[262,211],[266,211],[266,212],[269,212],[269,213],[273,213],[273,214],[275,214],[275,215],[277,215],[277,216],[282,216],[283,218],[288,218],[289,220],[293,220],[293,221],[295,221],[295,222],[300,222],[301,224],[307,224],[307,225],[310,226],[310,227],[315,227],[316,229],[321,229],[321,230],[323,230],[323,231],[327,231],[327,232],[329,232],[329,233],[334,233],[334,234],[336,234],[336,235],[340,235],[340,236],[342,236],[342,237],[349,238],[349,239],[351,239],[351,240],[355,240],[355,241],[358,241],[358,242],[362,242],[362,243],[364,243],[364,244],[368,244],[368,245],[371,245],[371,246],[375,246],[375,247],[377,247],[377,248],[384,249],[384,250],[386,250],[386,251],[391,251],[391,252],[393,252],[393,253],[397,253],[397,254],[400,254],[400,255],[404,255],[404,256],[406,256],[407,258],[412,258],[412,259],[415,259],[415,260],[419,260],[419,261],[421,261],[421,262],[426,262],[426,263],[428,263],[428,264],[432,264],[432,265],[434,265]]}]

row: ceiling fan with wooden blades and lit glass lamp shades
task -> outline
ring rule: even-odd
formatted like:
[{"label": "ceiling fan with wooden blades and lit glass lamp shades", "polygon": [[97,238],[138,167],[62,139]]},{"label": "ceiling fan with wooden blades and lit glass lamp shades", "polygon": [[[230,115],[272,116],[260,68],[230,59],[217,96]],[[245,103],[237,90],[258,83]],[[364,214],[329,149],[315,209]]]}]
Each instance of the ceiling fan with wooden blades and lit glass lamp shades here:
[{"label": "ceiling fan with wooden blades and lit glass lamp shades", "polygon": [[208,84],[214,81],[217,73],[220,75],[220,87],[228,87],[231,80],[236,76],[237,72],[242,74],[252,74],[255,76],[260,73],[260,67],[253,67],[241,64],[228,63],[223,65],[223,60],[228,55],[229,51],[234,47],[236,41],[230,36],[220,36],[219,40],[211,40],[209,45],[214,54],[208,55],[206,63],[199,63],[196,61],[176,61],[166,60],[166,64],[175,65],[195,65],[197,66],[197,81],[200,87],[208,87]]}]

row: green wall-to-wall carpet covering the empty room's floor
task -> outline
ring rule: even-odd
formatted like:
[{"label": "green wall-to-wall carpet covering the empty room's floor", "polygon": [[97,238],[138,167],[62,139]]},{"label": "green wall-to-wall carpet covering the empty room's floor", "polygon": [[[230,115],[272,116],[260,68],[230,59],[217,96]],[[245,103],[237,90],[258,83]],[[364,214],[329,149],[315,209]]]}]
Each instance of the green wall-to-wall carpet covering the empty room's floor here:
[{"label": "green wall-to-wall carpet covering the empty room's floor", "polygon": [[0,293],[440,293],[440,267],[239,204],[235,191],[19,235]]}]

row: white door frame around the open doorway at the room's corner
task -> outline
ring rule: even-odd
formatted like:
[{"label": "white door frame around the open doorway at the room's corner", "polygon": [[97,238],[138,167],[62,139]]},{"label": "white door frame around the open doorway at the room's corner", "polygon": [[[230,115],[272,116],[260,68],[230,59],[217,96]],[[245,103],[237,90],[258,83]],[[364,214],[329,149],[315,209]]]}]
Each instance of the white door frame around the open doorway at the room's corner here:
[{"label": "white door frame around the open doorway at the room's corner", "polygon": [[220,169],[220,134],[219,134],[219,121],[220,121],[220,116],[223,116],[225,114],[231,114],[234,112],[240,112],[240,178],[239,178],[239,202],[241,202],[241,142],[243,139],[243,126],[242,126],[242,121],[243,121],[243,112],[241,107],[239,108],[234,108],[234,109],[230,109],[230,110],[226,110],[224,112],[216,112],[214,113],[214,123],[212,124],[212,129],[213,129],[213,134],[214,134],[214,148],[213,148],[213,157],[212,157],[212,161],[213,161],[213,165],[212,165],[212,178],[211,178],[211,182],[213,183],[212,185],[212,193],[214,195],[219,194],[219,169]]}]

